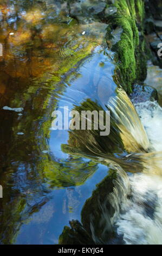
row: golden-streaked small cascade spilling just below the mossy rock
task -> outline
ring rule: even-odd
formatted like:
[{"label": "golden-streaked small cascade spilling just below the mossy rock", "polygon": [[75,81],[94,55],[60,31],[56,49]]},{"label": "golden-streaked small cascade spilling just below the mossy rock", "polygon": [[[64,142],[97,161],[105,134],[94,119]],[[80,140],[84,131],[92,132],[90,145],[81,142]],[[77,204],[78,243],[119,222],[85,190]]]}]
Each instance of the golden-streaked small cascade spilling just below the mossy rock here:
[{"label": "golden-streaked small cascade spilling just below the mossy rock", "polygon": [[118,126],[120,137],[128,152],[147,150],[149,141],[135,108],[122,88],[116,88],[117,96],[110,97],[108,108],[113,123]]}]

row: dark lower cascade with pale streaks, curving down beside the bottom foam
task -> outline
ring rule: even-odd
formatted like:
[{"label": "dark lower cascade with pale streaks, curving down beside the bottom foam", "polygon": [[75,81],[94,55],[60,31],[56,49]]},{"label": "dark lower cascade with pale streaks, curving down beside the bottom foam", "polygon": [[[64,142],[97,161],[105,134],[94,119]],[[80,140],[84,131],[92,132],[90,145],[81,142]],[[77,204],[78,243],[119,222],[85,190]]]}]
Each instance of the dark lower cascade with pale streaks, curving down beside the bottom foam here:
[{"label": "dark lower cascade with pale streaks, curving down beside the bottom foam", "polygon": [[[95,244],[107,243],[107,235],[109,238],[112,236],[114,239],[114,222],[119,217],[120,205],[126,203],[127,196],[130,193],[129,179],[124,169],[115,163],[110,163],[109,168],[116,174],[116,178],[111,181],[113,182],[112,192],[107,196],[103,196],[103,193],[101,193],[102,189],[100,188],[100,196],[95,198],[98,201],[97,204],[95,202],[97,207],[89,216],[89,233]],[[110,183],[106,182],[106,184],[108,187],[105,187],[105,190],[107,191],[109,190]],[[101,184],[101,186],[105,185]],[[86,210],[87,206],[84,212]],[[100,216],[98,221],[96,221],[97,216]]]}]

